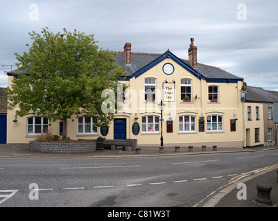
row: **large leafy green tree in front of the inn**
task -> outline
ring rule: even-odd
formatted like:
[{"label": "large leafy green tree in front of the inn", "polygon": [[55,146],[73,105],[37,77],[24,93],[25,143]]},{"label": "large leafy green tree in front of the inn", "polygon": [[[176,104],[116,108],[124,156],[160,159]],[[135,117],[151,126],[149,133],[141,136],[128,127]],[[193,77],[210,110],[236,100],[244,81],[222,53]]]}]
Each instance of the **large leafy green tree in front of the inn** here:
[{"label": "large leafy green tree in front of the inn", "polygon": [[17,68],[28,75],[18,75],[7,88],[8,109],[18,106],[19,117],[33,113],[48,117],[50,124],[61,120],[62,139],[67,139],[67,119],[73,120],[74,115],[96,117],[97,126],[109,124],[114,113],[102,111],[109,95],[101,95],[107,88],[116,93],[116,84],[125,75],[122,67],[114,64],[112,52],[99,49],[94,35],[76,30],[64,28],[62,36],[44,28],[42,35],[34,31],[29,35],[33,40],[32,46],[26,45],[29,51],[15,54]]}]

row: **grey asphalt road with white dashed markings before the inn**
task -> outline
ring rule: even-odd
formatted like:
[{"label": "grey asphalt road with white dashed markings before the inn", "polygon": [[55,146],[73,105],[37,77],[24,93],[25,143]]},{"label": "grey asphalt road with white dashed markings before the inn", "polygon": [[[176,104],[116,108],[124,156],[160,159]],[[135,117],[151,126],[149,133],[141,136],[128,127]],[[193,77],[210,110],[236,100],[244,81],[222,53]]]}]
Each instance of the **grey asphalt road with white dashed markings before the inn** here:
[{"label": "grey asphalt road with white dashed markings before the inn", "polygon": [[232,177],[273,164],[278,164],[278,150],[121,159],[0,159],[0,207],[202,206],[209,193]]}]

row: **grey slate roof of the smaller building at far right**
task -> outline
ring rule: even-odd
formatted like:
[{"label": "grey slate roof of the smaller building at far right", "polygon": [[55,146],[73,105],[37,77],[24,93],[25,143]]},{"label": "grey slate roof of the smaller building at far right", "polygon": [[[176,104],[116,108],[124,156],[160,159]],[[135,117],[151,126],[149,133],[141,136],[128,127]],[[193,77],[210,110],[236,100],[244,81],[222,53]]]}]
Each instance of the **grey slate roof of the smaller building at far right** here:
[{"label": "grey slate roof of the smaller building at far right", "polygon": [[259,87],[247,86],[247,102],[275,102],[278,101],[278,91],[265,90]]}]

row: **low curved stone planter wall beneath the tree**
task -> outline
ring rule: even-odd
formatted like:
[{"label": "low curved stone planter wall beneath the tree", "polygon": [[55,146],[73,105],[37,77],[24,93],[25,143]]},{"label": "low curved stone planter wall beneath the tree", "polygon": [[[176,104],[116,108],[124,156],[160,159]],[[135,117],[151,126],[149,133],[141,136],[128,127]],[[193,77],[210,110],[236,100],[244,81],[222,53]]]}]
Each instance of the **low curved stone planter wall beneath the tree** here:
[{"label": "low curved stone planter wall beneath the tree", "polygon": [[92,153],[96,151],[96,140],[89,143],[51,143],[34,142],[29,143],[29,150],[38,153]]}]

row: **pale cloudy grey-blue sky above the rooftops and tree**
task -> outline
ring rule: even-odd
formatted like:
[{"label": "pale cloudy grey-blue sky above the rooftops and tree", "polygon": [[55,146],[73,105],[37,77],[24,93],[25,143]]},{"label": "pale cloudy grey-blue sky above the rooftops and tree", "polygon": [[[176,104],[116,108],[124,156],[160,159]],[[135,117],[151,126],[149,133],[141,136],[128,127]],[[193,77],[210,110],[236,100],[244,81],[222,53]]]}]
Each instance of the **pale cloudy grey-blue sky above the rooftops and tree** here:
[{"label": "pale cloudy grey-blue sky above the rooftops and tree", "polygon": [[[16,69],[15,53],[28,52],[29,32],[74,29],[94,34],[103,49],[163,53],[243,77],[248,86],[278,90],[277,0],[0,0],[0,87]],[[4,65],[4,66],[2,66]]]}]

